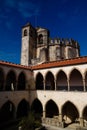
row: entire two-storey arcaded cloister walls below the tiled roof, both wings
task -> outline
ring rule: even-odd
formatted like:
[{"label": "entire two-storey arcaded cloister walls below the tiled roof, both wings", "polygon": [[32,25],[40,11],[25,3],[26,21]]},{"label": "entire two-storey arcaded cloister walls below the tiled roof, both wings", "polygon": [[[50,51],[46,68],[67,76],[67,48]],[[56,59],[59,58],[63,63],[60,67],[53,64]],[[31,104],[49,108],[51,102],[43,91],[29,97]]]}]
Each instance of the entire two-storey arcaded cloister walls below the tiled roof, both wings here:
[{"label": "entire two-storey arcaded cloister walls below the tiled roof, both wings", "polygon": [[[31,77],[33,90],[28,88]],[[19,119],[33,110],[42,119],[56,118],[67,125],[87,123],[86,65],[33,71],[0,67],[0,95],[0,122]]]}]

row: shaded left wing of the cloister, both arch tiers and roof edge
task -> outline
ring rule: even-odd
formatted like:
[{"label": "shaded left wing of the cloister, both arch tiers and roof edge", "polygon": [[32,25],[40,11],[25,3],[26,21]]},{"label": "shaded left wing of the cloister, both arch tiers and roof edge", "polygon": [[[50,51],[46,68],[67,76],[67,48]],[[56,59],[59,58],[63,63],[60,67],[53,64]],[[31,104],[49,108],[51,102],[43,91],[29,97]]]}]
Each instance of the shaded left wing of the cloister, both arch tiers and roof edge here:
[{"label": "shaded left wing of the cloister, both arch tiers and roof edge", "polygon": [[0,65],[0,125],[28,114],[30,110],[28,81],[32,78],[29,68],[3,62],[2,64]]}]

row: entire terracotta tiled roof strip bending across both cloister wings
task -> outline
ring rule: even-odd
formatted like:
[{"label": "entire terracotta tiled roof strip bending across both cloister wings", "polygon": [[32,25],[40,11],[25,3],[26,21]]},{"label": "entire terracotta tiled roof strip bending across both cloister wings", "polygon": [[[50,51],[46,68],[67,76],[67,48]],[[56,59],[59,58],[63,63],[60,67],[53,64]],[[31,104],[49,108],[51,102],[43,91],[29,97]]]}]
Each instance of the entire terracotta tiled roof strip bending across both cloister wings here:
[{"label": "entire terracotta tiled roof strip bending across both cloister wings", "polygon": [[0,65],[22,68],[22,69],[27,69],[27,70],[38,70],[38,69],[80,65],[80,64],[87,64],[87,56],[73,58],[73,59],[60,60],[60,61],[46,62],[46,63],[38,64],[35,66],[24,66],[24,65],[20,65],[20,64],[14,64],[11,62],[0,61]]}]

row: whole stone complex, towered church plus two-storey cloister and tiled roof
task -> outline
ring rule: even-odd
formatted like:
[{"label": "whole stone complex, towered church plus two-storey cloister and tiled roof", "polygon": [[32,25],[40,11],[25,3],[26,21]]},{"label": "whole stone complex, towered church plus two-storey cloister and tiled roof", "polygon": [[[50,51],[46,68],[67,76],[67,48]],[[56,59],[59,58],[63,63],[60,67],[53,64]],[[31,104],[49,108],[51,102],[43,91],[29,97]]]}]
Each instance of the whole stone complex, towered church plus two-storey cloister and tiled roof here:
[{"label": "whole stone complex, towered church plus two-storey cloister and tiled roof", "polygon": [[22,27],[21,63],[0,61],[0,125],[39,113],[42,123],[87,128],[87,56],[73,39]]}]

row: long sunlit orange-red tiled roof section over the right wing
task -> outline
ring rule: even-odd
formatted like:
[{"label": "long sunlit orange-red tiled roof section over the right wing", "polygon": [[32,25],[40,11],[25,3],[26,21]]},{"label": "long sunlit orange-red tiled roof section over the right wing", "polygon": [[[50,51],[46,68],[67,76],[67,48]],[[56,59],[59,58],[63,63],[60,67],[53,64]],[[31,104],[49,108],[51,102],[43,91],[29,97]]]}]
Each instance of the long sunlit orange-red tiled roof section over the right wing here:
[{"label": "long sunlit orange-red tiled roof section over the right wing", "polygon": [[87,56],[60,60],[60,61],[46,62],[43,64],[32,66],[32,69],[38,70],[38,69],[46,69],[46,68],[53,68],[53,67],[78,65],[78,64],[87,64]]}]

